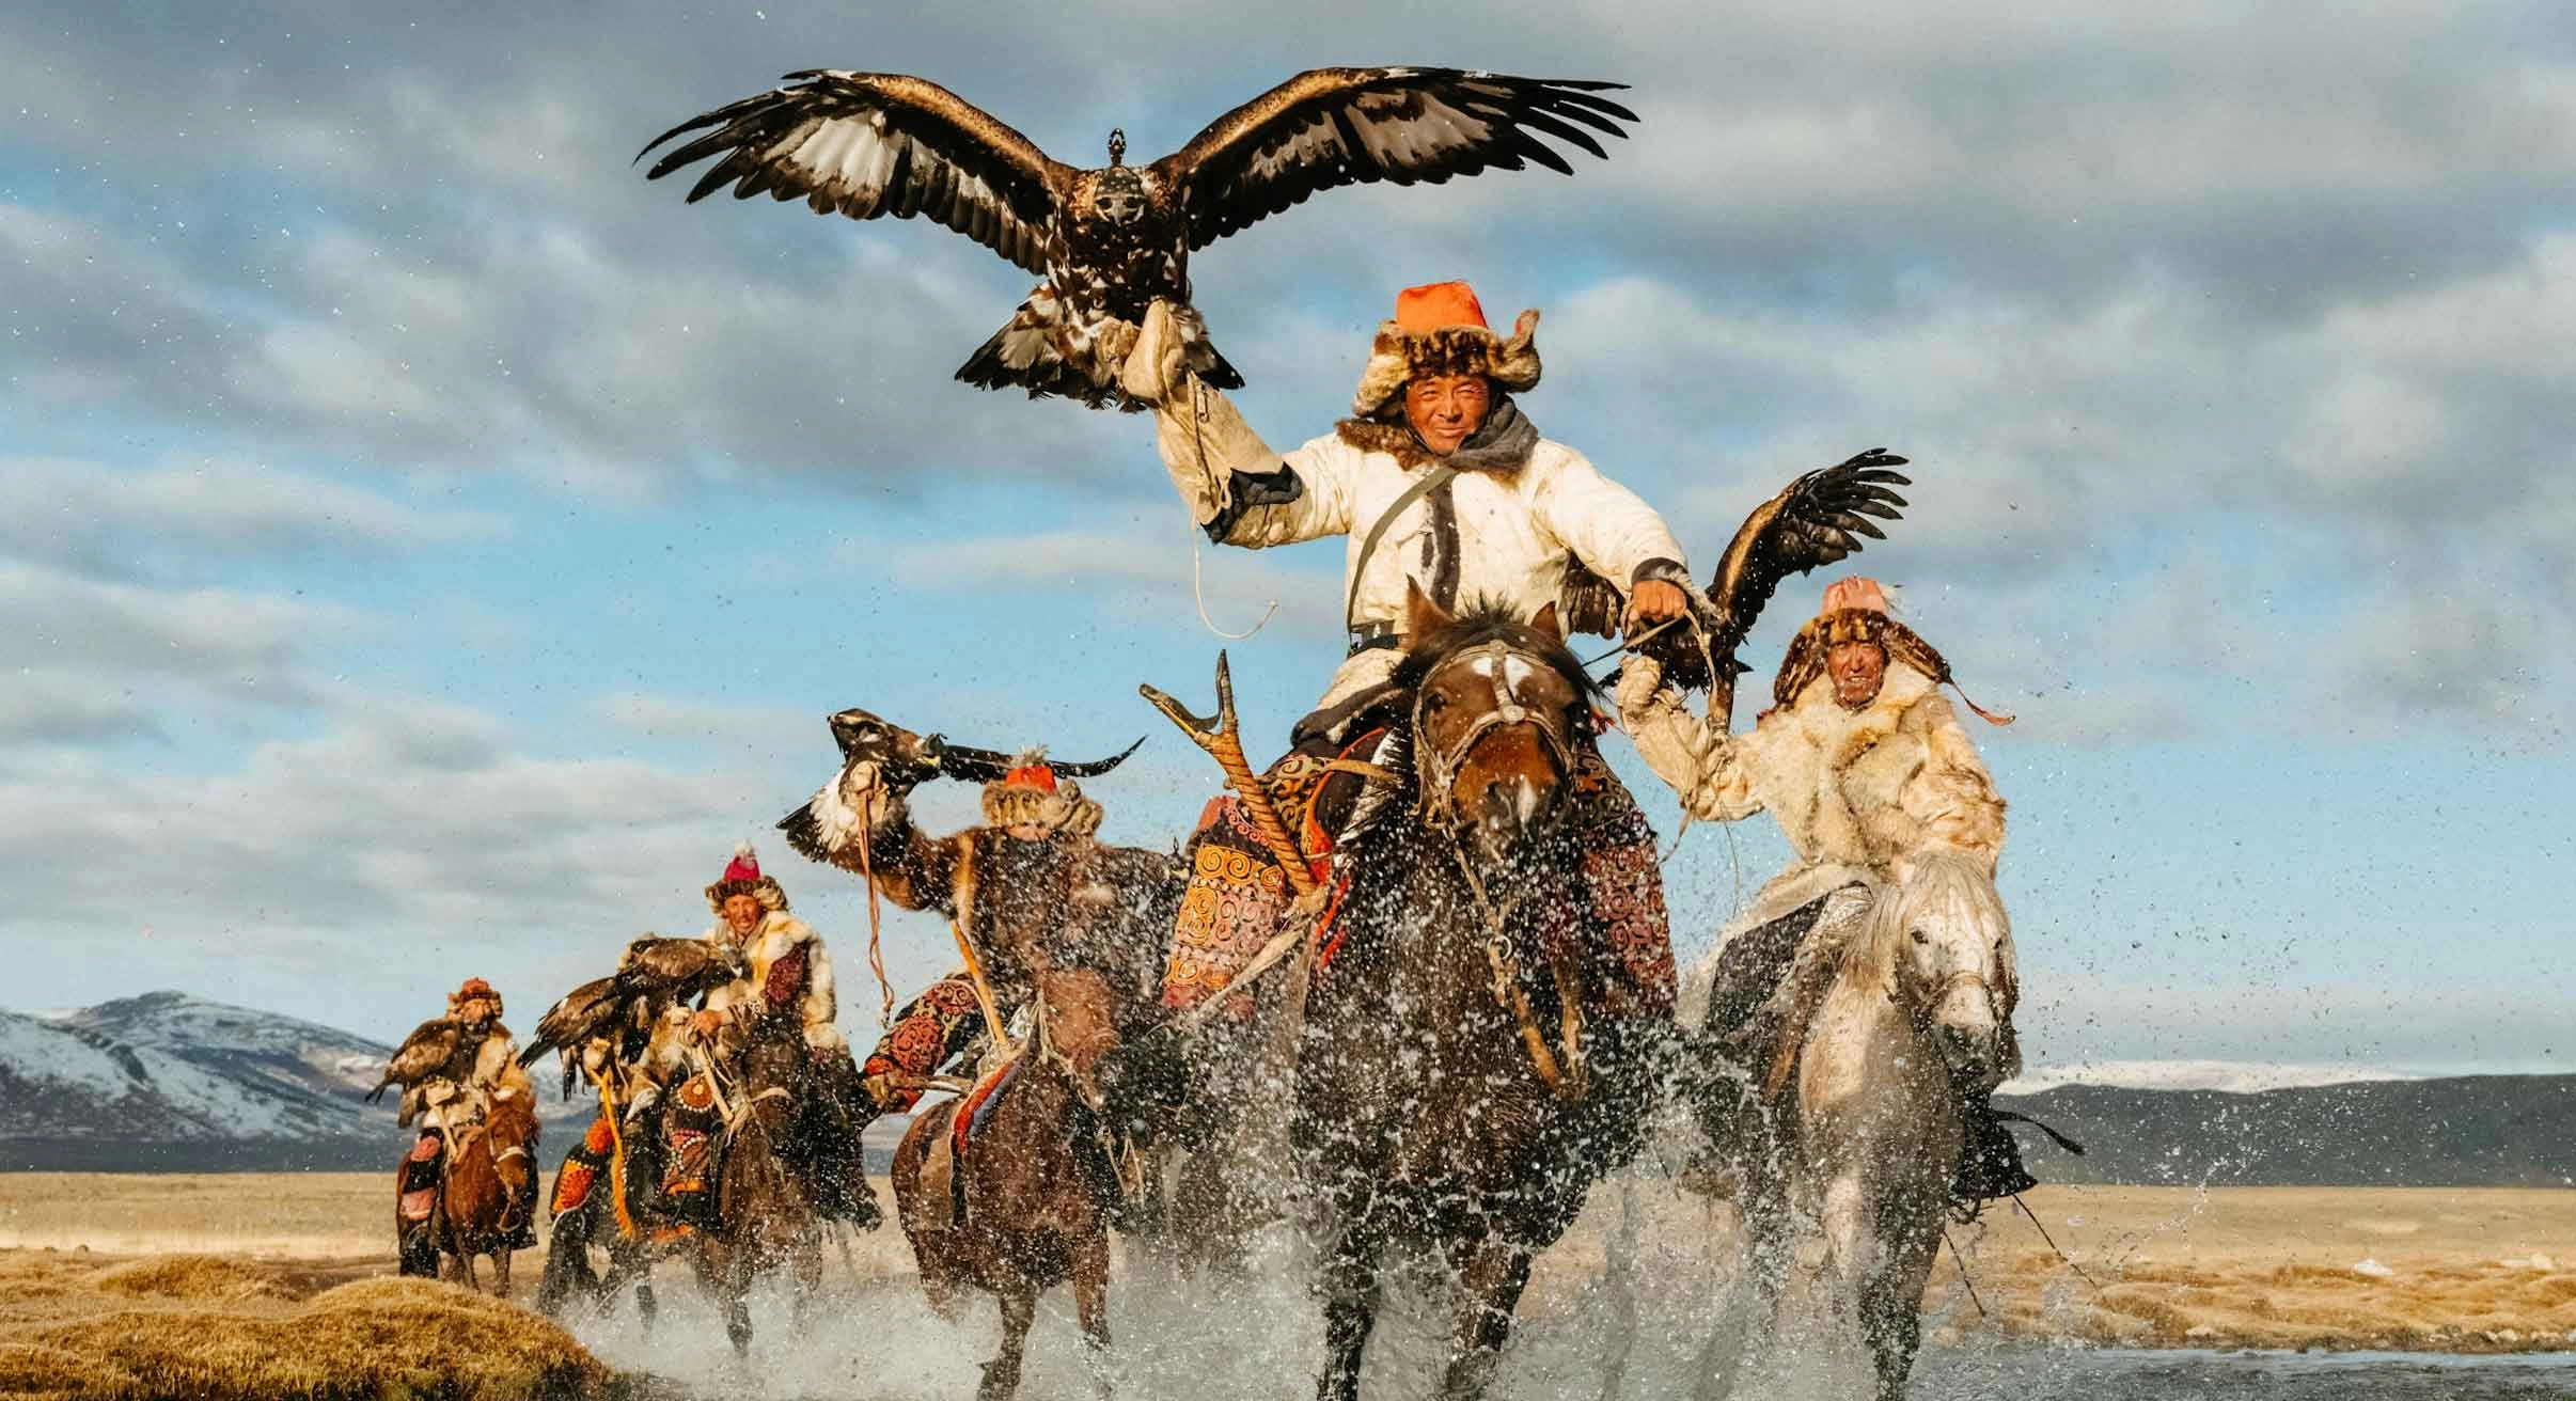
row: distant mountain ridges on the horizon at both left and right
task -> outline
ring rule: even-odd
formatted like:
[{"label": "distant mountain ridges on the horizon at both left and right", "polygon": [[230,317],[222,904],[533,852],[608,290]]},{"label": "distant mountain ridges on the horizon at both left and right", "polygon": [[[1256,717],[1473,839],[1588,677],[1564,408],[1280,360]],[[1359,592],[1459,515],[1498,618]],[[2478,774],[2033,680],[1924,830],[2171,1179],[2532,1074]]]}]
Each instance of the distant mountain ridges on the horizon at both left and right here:
[{"label": "distant mountain ridges on the horizon at both left and right", "polygon": [[[386,1169],[402,1149],[394,1105],[361,1097],[389,1053],[358,1033],[183,992],[0,1012],[0,1172]],[[2115,1066],[2128,1064],[2099,1071]],[[2156,1077],[2215,1084],[2262,1084],[2282,1071],[2159,1066]],[[2032,1169],[2050,1182],[2576,1185],[2576,1074],[2311,1084],[2308,1069],[2290,1071],[2298,1084],[2269,1089],[2094,1084],[2043,1071],[2035,1089],[1996,1095],[1996,1105],[2087,1143],[2084,1156],[2069,1156],[2025,1136]],[[590,1100],[556,1100],[551,1077],[538,1079],[546,1143],[574,1141]]]}]

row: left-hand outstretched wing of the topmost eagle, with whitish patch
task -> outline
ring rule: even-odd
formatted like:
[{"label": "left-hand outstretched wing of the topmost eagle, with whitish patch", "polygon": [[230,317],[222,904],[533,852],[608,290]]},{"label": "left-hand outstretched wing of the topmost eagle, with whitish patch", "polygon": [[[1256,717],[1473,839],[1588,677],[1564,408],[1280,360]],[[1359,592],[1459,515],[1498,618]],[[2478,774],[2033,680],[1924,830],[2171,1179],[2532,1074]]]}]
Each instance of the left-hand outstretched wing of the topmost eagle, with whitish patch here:
[{"label": "left-hand outstretched wing of the topmost eagle, with whitish patch", "polygon": [[783,88],[726,103],[654,136],[701,131],[654,160],[659,180],[721,157],[690,185],[690,203],[734,185],[734,198],[804,198],[850,219],[927,214],[1030,273],[1046,270],[1048,221],[1074,170],[938,82],[899,72],[791,72]]}]

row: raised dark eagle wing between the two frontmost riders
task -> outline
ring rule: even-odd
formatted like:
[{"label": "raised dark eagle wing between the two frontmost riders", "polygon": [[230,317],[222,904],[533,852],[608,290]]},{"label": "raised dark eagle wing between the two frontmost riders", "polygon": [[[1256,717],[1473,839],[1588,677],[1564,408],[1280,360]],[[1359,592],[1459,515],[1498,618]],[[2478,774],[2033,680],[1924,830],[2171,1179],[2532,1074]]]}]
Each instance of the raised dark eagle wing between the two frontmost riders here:
[{"label": "raised dark eagle wing between the two frontmost riders", "polygon": [[[1837,564],[1860,554],[1868,541],[1888,538],[1878,520],[1901,520],[1906,500],[1896,487],[1914,484],[1893,471],[1904,464],[1886,448],[1870,448],[1798,476],[1744,518],[1708,579],[1708,654],[1721,667],[1741,672],[1736,649],[1780,579]],[[1705,672],[1692,649],[1677,649],[1667,662],[1667,675],[1680,685],[1708,685]]]}]

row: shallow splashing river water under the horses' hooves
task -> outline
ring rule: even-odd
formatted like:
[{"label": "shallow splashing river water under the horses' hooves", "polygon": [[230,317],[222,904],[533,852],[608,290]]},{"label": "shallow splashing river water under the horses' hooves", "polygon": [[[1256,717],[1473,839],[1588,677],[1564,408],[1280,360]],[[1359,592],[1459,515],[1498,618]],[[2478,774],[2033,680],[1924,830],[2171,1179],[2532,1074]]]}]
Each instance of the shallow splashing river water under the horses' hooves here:
[{"label": "shallow splashing river water under the horses' hooves", "polygon": [[[665,1270],[662,1319],[644,1334],[631,1308],[577,1319],[603,1360],[652,1373],[688,1398],[971,1398],[976,1362],[992,1352],[992,1303],[971,1301],[956,1324],[927,1311],[909,1283],[832,1285],[809,1329],[788,1329],[778,1290],[755,1295],[762,1329],[750,1362],[724,1344],[714,1311],[680,1270]],[[1249,1283],[1206,1285],[1128,1270],[1113,1301],[1118,1393],[1133,1398],[1301,1401],[1314,1393],[1321,1337],[1293,1262]],[[1700,1280],[1638,1283],[1636,1324],[1597,1288],[1535,1301],[1515,1331],[1497,1398],[1662,1401],[1692,1393],[1698,1349],[1723,1303],[1692,1306]],[[1427,1396],[1443,1329],[1422,1298],[1399,1290],[1370,1342],[1368,1398]],[[1072,1303],[1041,1306],[1023,1396],[1090,1396]],[[1615,1391],[1607,1386],[1615,1373]],[[1855,1391],[1795,1362],[1747,1398],[1842,1401]],[[1914,1375],[1917,1401],[2524,1401],[2576,1398],[2576,1355],[2280,1355],[2138,1352],[2032,1347],[2020,1342],[1932,1344]]]}]

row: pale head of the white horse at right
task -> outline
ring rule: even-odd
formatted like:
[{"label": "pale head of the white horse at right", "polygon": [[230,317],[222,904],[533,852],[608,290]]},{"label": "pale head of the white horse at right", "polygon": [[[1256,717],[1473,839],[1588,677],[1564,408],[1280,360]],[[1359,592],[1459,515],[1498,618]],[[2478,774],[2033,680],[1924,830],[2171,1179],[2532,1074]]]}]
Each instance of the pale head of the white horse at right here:
[{"label": "pale head of the white horse at right", "polygon": [[1906,858],[1880,919],[1880,937],[1893,940],[1896,997],[1940,1048],[1950,1079],[1984,1092],[2020,1074],[2012,917],[1986,863],[1950,850]]}]

